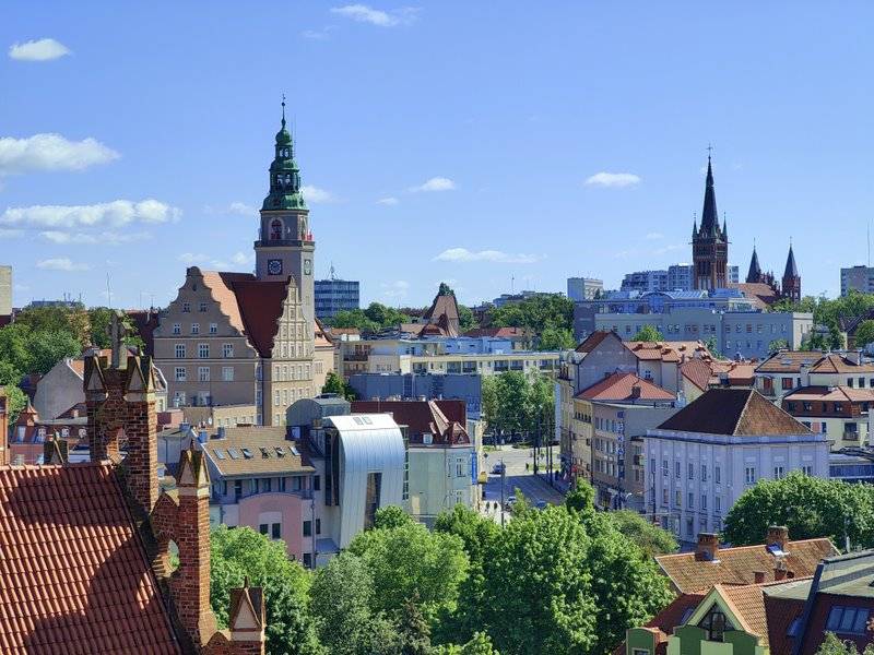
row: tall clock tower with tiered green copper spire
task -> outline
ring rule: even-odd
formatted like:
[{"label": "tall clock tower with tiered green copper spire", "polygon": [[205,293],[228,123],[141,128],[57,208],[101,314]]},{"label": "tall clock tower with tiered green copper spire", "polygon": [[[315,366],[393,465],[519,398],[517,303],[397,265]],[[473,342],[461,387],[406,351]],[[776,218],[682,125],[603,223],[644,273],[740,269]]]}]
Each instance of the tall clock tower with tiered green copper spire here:
[{"label": "tall clock tower with tiered green copper spire", "polygon": [[316,320],[312,259],[316,242],[309,230],[307,210],[300,188],[300,169],[294,160],[294,143],[285,127],[285,102],[282,103],[282,128],[276,132],[273,163],[270,165],[270,192],[261,206],[261,229],[255,242],[256,275],[265,282],[295,278],[300,290],[304,319],[312,329]]}]

